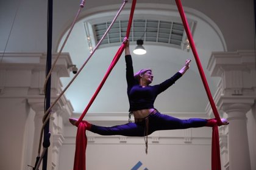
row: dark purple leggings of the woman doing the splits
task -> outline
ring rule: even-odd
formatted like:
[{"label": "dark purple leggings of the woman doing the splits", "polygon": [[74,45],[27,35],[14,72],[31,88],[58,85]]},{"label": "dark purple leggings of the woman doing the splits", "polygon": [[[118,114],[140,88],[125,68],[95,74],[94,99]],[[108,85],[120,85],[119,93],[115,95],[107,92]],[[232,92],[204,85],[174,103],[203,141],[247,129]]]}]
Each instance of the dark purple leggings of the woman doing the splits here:
[{"label": "dark purple leggings of the woman doing the splits", "polygon": [[[146,135],[160,130],[187,129],[190,127],[203,127],[207,120],[201,118],[190,118],[180,120],[169,115],[160,114],[159,112],[148,116],[149,127]],[[127,123],[118,126],[104,127],[91,125],[91,132],[99,135],[123,135],[128,137],[143,137],[145,136],[145,121],[138,123]]]}]

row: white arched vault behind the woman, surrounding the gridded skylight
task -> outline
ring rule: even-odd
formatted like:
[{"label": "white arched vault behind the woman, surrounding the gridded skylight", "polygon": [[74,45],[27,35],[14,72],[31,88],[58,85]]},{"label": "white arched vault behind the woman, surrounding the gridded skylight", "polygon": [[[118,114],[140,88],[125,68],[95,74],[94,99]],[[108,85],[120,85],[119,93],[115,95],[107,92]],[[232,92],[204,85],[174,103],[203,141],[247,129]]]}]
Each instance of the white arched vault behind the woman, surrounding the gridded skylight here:
[{"label": "white arched vault behind the woman, surrounding the gridded skylight", "polygon": [[[152,9],[152,7],[150,9]],[[135,11],[135,17],[147,18],[154,16],[155,18],[160,17],[158,19],[177,19],[177,16],[179,16],[177,11],[173,10],[172,5],[169,5],[169,7],[171,7],[169,12],[166,10],[161,11],[160,9],[149,10],[148,13],[150,13],[150,15],[146,15],[146,10],[140,10],[140,8],[138,8],[137,11]],[[194,10],[188,11],[190,13],[187,15],[187,18],[196,21],[193,37],[197,52],[201,58],[202,66],[205,70],[205,75],[207,76],[208,84],[214,95],[219,78],[211,78],[206,67],[211,53],[225,50],[226,44],[221,38],[221,33],[218,32],[218,27],[213,24],[210,18]],[[129,10],[124,10],[124,13],[125,15],[122,15],[121,18],[128,17]],[[169,18],[168,15],[170,15]],[[78,69],[90,55],[84,30],[84,22],[92,23],[95,19],[101,20],[104,19],[104,17],[112,18],[112,10],[111,12],[104,10],[104,12],[98,12],[96,16],[91,15],[81,18],[74,26],[73,32],[63,52],[70,53],[73,64],[76,64]],[[63,38],[66,37],[65,35]],[[59,44],[59,47],[62,46],[62,42]],[[91,99],[104,77],[120,45],[121,44],[104,46],[96,50],[83,71],[66,91],[66,98],[71,101],[75,113],[83,112],[87,106],[88,101]],[[188,70],[176,84],[158,96],[155,101],[155,107],[160,112],[204,112],[208,99],[197,70],[196,62],[193,59],[193,53],[171,46],[163,46],[163,44],[157,44],[157,42],[144,42],[144,47],[147,50],[146,55],[132,55],[133,67],[135,72],[145,67],[151,67],[155,76],[152,84],[161,83],[171,77],[174,73],[179,71],[187,58],[192,60],[191,69]],[[131,42],[130,49],[132,50],[134,48],[135,42]],[[126,95],[125,68],[126,65],[123,54],[88,112],[128,112],[129,103]],[[62,78],[63,87],[69,83],[72,77],[73,75],[71,74],[70,78]]]}]

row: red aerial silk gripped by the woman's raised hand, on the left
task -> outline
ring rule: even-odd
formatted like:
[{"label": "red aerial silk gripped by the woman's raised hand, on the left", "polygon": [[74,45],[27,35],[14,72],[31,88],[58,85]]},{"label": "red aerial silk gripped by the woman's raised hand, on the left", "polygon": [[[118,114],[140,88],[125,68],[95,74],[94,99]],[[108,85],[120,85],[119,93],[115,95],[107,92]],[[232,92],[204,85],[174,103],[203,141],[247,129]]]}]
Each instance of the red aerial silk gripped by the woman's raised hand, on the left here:
[{"label": "red aerial silk gripped by the woman's raised hand, on the left", "polygon": [[[130,18],[126,30],[126,37],[129,38],[130,35],[130,28],[132,26],[132,19],[133,19],[133,13],[135,10],[135,5],[136,5],[137,0],[132,1],[132,7],[130,10]],[[79,120],[76,123],[77,126],[77,135],[76,135],[76,152],[75,152],[75,158],[74,158],[74,170],[85,170],[86,169],[86,164],[85,164],[85,152],[87,148],[87,137],[85,134],[85,131],[87,129],[86,123],[82,121],[82,119],[85,117],[85,114],[87,114],[88,109],[90,108],[91,104],[93,104],[93,101],[99,94],[99,91],[101,90],[102,86],[104,85],[105,81],[107,80],[108,75],[112,71],[113,67],[115,64],[118,62],[120,56],[122,55],[124,48],[126,44],[122,44],[121,47],[119,47],[118,52],[116,52],[115,57],[113,58],[112,63],[107,69],[107,72],[104,75],[103,80],[99,84],[98,88],[94,92],[93,97],[91,98],[90,102],[88,103],[87,107],[85,108],[84,112],[80,116]]]}]

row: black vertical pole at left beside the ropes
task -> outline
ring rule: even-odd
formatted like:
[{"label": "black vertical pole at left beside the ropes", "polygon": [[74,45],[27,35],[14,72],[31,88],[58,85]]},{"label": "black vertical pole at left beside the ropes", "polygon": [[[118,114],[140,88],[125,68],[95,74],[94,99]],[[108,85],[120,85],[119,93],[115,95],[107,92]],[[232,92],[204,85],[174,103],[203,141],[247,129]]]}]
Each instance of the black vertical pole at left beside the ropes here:
[{"label": "black vertical pole at left beside the ropes", "polygon": [[[46,76],[51,70],[52,66],[52,6],[53,1],[48,0],[48,28],[47,28],[47,60],[46,60]],[[46,101],[45,101],[45,110],[48,110],[51,106],[51,76],[49,77],[46,83]],[[50,111],[51,112],[51,111]],[[50,114],[50,113],[49,113]],[[48,158],[48,147],[50,146],[50,134],[49,134],[49,120],[44,127],[43,133],[43,147],[46,148],[46,152],[43,156],[43,170],[47,169],[47,158]]]}]

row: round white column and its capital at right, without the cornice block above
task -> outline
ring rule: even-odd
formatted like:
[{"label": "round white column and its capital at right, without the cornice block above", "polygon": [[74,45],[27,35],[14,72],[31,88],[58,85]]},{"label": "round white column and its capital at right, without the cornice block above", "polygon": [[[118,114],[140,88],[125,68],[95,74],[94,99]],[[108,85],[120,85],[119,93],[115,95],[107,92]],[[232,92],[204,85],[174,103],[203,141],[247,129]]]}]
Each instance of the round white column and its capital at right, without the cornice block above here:
[{"label": "round white column and its capital at right, without the cornice block above", "polygon": [[230,169],[251,169],[246,128],[246,113],[251,104],[224,104],[222,109],[229,120],[229,165]]}]

